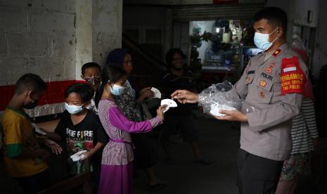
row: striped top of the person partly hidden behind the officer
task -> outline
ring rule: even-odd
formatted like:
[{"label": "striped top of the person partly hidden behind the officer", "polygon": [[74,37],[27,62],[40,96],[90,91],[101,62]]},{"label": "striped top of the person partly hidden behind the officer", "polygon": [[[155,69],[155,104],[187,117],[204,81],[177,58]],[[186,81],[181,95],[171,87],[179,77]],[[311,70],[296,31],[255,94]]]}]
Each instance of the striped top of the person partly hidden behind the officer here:
[{"label": "striped top of the person partly hidden behind the officer", "polygon": [[304,99],[300,115],[293,118],[292,123],[292,153],[309,153],[314,150],[313,138],[318,138],[314,101]]}]

